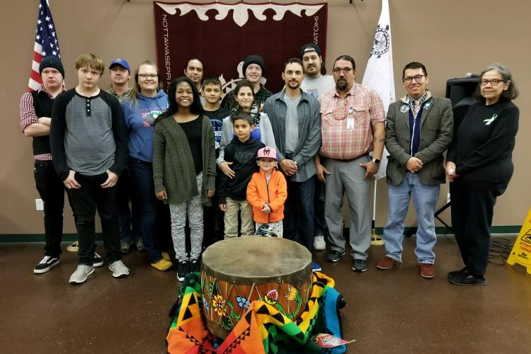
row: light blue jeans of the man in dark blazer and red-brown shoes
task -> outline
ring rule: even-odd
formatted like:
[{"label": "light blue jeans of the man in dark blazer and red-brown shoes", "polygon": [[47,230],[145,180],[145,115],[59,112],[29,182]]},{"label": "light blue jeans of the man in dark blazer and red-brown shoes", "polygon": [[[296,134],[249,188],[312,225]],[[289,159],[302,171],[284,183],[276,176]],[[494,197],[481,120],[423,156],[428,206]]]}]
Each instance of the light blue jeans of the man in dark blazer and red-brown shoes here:
[{"label": "light blue jeans of the man in dark blazer and red-brown shoes", "polygon": [[386,256],[402,261],[402,239],[404,238],[404,219],[413,194],[418,219],[417,246],[415,254],[418,263],[435,263],[433,247],[437,242],[434,216],[439,200],[440,185],[424,185],[418,180],[418,173],[406,173],[399,185],[389,185],[389,216],[384,227]]}]

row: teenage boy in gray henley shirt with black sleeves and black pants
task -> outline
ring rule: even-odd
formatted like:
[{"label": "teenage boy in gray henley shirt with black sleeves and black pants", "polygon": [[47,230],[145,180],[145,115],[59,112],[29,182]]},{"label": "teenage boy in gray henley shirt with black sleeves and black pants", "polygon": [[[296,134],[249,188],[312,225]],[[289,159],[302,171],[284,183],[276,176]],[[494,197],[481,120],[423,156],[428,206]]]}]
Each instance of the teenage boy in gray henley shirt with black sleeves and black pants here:
[{"label": "teenage boy in gray henley shirt with black sleeves and black pants", "polygon": [[121,261],[116,182],[127,156],[127,132],[118,99],[98,87],[103,62],[93,54],[76,60],[79,84],[57,96],[52,110],[50,147],[53,164],[67,187],[77,215],[79,265],[71,284],[94,272],[96,209],[105,254],[115,278],[129,275]]}]

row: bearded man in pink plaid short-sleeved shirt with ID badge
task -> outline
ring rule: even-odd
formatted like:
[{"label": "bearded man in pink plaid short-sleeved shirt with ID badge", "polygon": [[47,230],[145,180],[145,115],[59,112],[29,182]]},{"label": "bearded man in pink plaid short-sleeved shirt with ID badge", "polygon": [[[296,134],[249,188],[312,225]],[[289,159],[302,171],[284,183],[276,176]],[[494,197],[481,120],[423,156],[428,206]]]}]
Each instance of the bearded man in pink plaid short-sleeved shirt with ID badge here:
[{"label": "bearded man in pink plaid short-sleeved shirt with ID badge", "polygon": [[385,110],[375,91],[355,83],[355,74],[354,59],[341,55],[333,63],[336,88],[319,96],[322,142],[316,173],[326,182],[324,218],[331,249],[326,261],[337,262],[345,254],[342,207],[346,193],[353,270],[365,272],[371,235],[370,181],[384,151]]}]

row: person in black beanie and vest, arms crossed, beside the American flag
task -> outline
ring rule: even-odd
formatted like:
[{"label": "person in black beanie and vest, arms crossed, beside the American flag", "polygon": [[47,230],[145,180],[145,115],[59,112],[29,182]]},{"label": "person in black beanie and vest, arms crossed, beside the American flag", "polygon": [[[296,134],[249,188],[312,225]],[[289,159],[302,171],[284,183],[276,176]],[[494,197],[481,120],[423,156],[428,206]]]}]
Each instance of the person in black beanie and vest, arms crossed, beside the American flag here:
[{"label": "person in black beanie and vest, arms crossed, beside the American flag", "polygon": [[[64,207],[64,184],[55,172],[50,152],[52,105],[57,95],[64,91],[61,60],[53,55],[43,57],[39,74],[42,85],[37,91],[24,93],[19,105],[21,132],[26,137],[33,137],[35,185],[44,203],[45,256],[33,269],[35,274],[46,273],[59,264]],[[101,257],[98,257],[94,263],[102,265]]]}]

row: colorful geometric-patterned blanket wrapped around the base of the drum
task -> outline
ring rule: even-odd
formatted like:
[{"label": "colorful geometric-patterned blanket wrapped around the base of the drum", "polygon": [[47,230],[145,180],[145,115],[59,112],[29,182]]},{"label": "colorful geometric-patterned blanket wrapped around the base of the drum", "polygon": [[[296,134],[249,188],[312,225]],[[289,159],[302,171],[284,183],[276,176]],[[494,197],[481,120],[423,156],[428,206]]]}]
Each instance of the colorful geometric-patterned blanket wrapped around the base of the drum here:
[{"label": "colorful geometric-patterned blanket wrapped around the base of the drum", "polygon": [[[222,341],[213,336],[201,318],[200,273],[192,273],[181,286],[181,307],[173,319],[166,341],[169,353],[319,353],[323,348],[309,338],[312,333],[341,337],[338,318],[341,295],[333,289],[334,280],[315,272],[312,294],[304,312],[295,321],[280,313],[274,304],[257,300]],[[316,332],[318,331],[318,332]],[[221,342],[222,341],[222,342]],[[221,342],[221,343],[220,343]],[[328,353],[344,353],[345,346]]]}]

